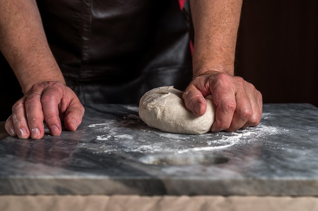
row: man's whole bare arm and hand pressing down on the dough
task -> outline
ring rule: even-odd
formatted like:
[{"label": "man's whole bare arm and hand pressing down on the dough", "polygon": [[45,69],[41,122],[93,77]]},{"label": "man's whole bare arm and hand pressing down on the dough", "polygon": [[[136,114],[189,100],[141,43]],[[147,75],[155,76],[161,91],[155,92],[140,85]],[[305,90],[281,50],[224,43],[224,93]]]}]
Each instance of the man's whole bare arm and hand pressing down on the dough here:
[{"label": "man's whole bare arm and hand pressing down on the dough", "polygon": [[[183,94],[195,115],[206,111],[204,97],[216,105],[212,132],[256,126],[262,118],[262,95],[234,75],[235,47],[242,0],[190,0],[194,26],[194,79]],[[212,70],[212,71],[211,71]]]}]

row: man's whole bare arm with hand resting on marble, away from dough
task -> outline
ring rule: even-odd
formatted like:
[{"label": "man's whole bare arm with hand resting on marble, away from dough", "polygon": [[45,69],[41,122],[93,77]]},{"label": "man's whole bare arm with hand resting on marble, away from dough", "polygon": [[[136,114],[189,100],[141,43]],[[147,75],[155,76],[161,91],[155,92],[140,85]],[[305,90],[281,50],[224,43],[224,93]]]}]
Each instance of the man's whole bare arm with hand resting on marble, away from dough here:
[{"label": "man's whole bare arm with hand resting on marble, away from dough", "polygon": [[62,131],[60,120],[75,131],[84,108],[62,83],[65,79],[49,48],[37,1],[0,0],[0,4],[0,51],[24,94],[12,108],[5,124],[7,132],[21,139],[41,139],[45,121],[51,134],[58,136]]}]

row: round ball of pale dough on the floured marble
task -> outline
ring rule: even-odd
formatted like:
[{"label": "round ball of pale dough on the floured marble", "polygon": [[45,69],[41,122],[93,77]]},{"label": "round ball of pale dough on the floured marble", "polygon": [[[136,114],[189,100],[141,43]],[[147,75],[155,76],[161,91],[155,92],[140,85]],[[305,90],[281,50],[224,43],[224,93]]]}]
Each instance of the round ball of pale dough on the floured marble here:
[{"label": "round ball of pale dough on the floured marble", "polygon": [[139,116],[151,128],[170,133],[204,134],[214,122],[215,105],[212,96],[206,98],[203,116],[189,111],[182,100],[183,92],[170,87],[159,87],[145,93],[139,101]]}]

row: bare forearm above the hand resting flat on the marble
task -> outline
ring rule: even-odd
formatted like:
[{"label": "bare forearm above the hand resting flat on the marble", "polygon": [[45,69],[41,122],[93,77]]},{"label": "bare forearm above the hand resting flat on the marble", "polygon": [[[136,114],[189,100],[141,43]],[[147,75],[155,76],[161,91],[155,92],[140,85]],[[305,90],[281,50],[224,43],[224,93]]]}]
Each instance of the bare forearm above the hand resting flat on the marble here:
[{"label": "bare forearm above the hand resting flat on the marble", "polygon": [[50,51],[35,0],[0,0],[0,50],[23,93],[35,83],[65,82]]}]

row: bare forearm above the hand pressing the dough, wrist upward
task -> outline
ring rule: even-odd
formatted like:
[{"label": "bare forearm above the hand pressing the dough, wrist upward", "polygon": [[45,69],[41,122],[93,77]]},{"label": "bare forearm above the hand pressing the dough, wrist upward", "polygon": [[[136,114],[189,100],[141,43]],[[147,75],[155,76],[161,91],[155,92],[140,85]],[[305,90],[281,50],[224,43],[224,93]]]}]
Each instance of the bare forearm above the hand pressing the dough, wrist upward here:
[{"label": "bare forearm above the hand pressing the dough, wrist upward", "polygon": [[234,74],[242,0],[190,0],[195,30],[194,76],[209,71]]}]

